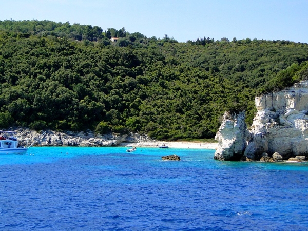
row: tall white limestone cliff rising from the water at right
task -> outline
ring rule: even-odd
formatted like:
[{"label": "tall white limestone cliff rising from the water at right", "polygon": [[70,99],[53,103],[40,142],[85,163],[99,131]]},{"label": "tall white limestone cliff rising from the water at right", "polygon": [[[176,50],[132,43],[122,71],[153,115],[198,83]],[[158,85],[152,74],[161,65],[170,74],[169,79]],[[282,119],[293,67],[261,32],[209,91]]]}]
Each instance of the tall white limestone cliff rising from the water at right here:
[{"label": "tall white limestone cliff rising from the water at right", "polygon": [[[237,144],[242,147],[243,157],[258,160],[264,153],[271,157],[275,152],[284,160],[295,156],[308,157],[308,80],[279,92],[256,97],[256,107],[258,112],[249,136],[241,145]],[[231,139],[232,134],[225,128],[225,123],[226,120],[217,132],[218,140],[223,140],[220,136]],[[246,131],[242,135],[237,134],[239,136],[246,137]],[[234,138],[234,142],[236,140]],[[222,155],[225,157],[222,159],[228,160],[235,152],[224,148],[225,144],[222,142],[215,156]]]}]

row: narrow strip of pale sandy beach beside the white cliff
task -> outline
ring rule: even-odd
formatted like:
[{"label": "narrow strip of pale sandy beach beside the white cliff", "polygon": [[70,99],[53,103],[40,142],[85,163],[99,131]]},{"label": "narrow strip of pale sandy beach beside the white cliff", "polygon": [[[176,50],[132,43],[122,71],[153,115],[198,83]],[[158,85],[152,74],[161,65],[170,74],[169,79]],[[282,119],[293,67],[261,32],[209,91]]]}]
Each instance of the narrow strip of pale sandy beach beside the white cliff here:
[{"label": "narrow strip of pale sandy beach beside the white cliff", "polygon": [[132,147],[158,147],[161,145],[166,145],[169,148],[203,148],[203,149],[217,149],[218,147],[218,143],[206,143],[206,142],[200,143],[200,142],[185,142],[185,141],[123,143],[122,145],[132,146]]}]

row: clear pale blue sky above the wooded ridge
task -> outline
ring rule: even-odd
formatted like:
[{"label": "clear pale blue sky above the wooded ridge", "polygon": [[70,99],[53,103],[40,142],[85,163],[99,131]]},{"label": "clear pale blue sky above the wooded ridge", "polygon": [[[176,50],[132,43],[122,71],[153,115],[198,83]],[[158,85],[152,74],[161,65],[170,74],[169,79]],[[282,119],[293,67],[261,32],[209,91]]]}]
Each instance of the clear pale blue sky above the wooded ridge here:
[{"label": "clear pale blue sky above the wooded ridge", "polygon": [[0,0],[0,21],[125,27],[178,42],[235,37],[308,43],[307,12],[308,0]]}]

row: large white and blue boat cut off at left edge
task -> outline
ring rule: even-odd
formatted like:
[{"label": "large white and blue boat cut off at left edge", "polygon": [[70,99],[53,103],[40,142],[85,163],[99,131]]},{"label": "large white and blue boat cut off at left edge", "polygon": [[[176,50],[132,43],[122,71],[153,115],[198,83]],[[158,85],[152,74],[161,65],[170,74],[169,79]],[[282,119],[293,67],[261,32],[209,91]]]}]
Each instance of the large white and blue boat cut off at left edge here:
[{"label": "large white and blue boat cut off at left edge", "polygon": [[25,154],[28,149],[45,134],[45,132],[42,132],[41,136],[29,147],[24,147],[18,143],[16,133],[16,131],[0,131],[0,154]]}]

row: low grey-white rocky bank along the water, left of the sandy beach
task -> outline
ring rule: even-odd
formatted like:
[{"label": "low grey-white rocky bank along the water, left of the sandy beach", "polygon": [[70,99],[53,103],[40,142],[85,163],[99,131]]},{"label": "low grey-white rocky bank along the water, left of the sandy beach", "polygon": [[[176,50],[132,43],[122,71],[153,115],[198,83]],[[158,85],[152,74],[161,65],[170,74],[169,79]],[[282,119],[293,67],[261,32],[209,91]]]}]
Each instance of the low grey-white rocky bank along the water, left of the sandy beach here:
[{"label": "low grey-white rocky bank along the water, left of the sandy beach", "polygon": [[[29,129],[16,129],[18,131],[18,140],[21,145],[30,145],[35,141],[40,134],[35,130]],[[43,137],[33,146],[83,146],[83,147],[96,147],[96,146],[121,146],[126,143],[140,143],[140,142],[153,142],[147,136],[130,133],[129,135],[119,134],[105,134],[95,135],[93,132],[55,132],[48,130]]]}]

